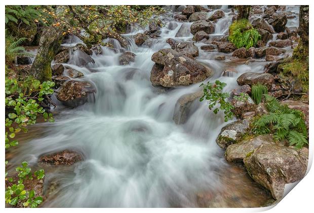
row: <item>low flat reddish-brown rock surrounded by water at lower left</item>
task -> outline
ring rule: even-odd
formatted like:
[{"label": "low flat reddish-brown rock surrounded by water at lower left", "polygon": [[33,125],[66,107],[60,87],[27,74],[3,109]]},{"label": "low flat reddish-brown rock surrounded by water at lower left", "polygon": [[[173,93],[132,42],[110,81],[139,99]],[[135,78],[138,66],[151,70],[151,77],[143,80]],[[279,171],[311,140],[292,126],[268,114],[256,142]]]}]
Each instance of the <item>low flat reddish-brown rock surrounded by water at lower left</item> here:
[{"label": "low flat reddish-brown rock surrounded by water at lower left", "polygon": [[54,154],[41,156],[38,163],[49,164],[52,166],[70,166],[84,159],[83,155],[74,151],[64,150]]}]

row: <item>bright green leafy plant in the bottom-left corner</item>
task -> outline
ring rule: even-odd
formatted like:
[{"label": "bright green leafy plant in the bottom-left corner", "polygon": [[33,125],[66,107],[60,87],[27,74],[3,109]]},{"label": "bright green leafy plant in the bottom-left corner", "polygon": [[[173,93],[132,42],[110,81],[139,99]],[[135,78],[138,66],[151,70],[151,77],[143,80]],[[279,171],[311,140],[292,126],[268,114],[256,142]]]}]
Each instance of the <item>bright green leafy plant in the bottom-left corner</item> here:
[{"label": "bright green leafy plant in the bottom-left corner", "polygon": [[16,171],[18,171],[18,180],[16,183],[13,177],[7,177],[6,174],[6,203],[15,206],[19,202],[22,202],[24,207],[37,207],[43,202],[43,198],[41,196],[35,197],[34,190],[25,190],[23,182],[27,179],[32,180],[33,176],[35,176],[38,180],[43,179],[45,176],[44,170],[41,169],[32,174],[31,168],[28,167],[27,162],[22,162],[22,165],[17,167]]}]

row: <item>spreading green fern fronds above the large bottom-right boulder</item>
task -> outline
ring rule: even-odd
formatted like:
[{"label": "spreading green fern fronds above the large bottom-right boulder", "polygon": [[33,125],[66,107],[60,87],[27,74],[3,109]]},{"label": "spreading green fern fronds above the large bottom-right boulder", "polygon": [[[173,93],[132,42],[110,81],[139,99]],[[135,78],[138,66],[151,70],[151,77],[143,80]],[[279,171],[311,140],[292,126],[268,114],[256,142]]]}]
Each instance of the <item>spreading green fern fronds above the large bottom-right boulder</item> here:
[{"label": "spreading green fern fronds above the large bottom-right boulder", "polygon": [[288,139],[290,146],[301,149],[308,144],[304,115],[301,111],[282,105],[273,96],[264,94],[268,114],[254,121],[255,134],[273,133],[274,139]]}]

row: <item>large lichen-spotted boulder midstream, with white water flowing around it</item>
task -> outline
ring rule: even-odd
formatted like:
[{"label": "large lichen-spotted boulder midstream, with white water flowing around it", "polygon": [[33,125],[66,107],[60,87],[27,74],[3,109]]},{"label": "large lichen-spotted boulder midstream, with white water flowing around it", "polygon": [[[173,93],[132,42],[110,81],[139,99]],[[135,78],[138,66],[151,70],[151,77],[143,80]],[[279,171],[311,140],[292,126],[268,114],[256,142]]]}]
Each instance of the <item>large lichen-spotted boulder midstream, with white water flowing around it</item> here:
[{"label": "large lichen-spotted boulder midstream, with white water flowing around it", "polygon": [[151,60],[155,62],[150,72],[150,81],[154,86],[186,86],[212,75],[208,67],[172,49],[155,52]]}]

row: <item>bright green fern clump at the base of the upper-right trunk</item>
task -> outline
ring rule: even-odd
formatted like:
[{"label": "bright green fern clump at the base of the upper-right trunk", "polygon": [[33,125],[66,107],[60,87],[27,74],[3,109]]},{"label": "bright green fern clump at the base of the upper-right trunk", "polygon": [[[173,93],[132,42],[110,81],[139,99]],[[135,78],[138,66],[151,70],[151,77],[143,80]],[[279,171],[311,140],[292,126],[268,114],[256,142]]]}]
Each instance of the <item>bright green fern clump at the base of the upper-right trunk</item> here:
[{"label": "bright green fern clump at the base of the upper-right trunk", "polygon": [[255,47],[261,35],[246,19],[234,21],[229,27],[228,40],[237,48]]}]

